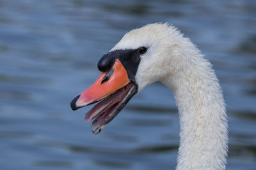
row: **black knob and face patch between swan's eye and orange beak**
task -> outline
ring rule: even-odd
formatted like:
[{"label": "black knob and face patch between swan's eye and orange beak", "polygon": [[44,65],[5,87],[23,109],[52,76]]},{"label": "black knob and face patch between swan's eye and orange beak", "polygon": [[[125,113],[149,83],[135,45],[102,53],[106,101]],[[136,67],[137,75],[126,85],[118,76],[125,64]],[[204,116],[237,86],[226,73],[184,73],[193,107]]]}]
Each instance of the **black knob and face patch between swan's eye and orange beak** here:
[{"label": "black knob and face patch between swan's eye and orange beak", "polygon": [[[140,55],[145,52],[147,52],[146,47],[140,47],[135,50],[127,49],[127,50],[115,50],[113,52],[109,52],[103,55],[102,58],[99,60],[98,68],[102,72],[108,71],[113,66],[115,60],[119,59],[120,62],[122,62],[123,66],[125,67],[125,70],[127,71],[128,78],[134,83],[136,83],[135,75],[137,73],[138,66],[140,64]],[[108,80],[105,80],[105,81],[108,81]]]}]

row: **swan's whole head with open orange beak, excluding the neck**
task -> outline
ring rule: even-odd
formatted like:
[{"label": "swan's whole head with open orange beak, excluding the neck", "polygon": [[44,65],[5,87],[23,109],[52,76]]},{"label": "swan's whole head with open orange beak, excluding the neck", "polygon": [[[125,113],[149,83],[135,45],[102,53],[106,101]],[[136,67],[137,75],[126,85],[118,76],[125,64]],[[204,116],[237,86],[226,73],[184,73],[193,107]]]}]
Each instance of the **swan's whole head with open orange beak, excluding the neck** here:
[{"label": "swan's whole head with open orange beak, excluding the neck", "polygon": [[[74,97],[72,110],[96,103],[85,117],[98,134],[124,108],[132,96],[179,68],[182,34],[168,24],[148,24],[127,32],[98,62],[102,72],[88,89]],[[178,48],[177,48],[178,47]]]}]

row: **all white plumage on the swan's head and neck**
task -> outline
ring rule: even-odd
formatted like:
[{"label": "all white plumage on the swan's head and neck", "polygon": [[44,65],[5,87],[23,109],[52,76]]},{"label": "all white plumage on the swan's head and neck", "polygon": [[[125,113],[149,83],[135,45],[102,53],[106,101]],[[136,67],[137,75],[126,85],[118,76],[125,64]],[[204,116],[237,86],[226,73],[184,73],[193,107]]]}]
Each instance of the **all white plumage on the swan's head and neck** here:
[{"label": "all white plumage on the swan's head and neck", "polygon": [[138,91],[154,81],[169,87],[180,116],[177,169],[225,169],[227,115],[218,79],[198,48],[168,24],[127,32],[111,50],[147,46],[136,73]]}]

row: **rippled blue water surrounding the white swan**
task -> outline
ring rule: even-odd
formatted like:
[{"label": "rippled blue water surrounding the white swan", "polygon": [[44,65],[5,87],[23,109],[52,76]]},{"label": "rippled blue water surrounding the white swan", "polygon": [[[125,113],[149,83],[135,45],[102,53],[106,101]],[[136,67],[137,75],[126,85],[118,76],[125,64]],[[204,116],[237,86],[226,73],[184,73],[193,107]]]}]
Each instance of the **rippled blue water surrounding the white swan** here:
[{"label": "rippled blue water surrounding the white swan", "polygon": [[154,83],[99,135],[73,96],[125,32],[171,22],[216,69],[227,102],[227,169],[256,169],[256,2],[0,1],[1,169],[174,169],[179,117]]}]

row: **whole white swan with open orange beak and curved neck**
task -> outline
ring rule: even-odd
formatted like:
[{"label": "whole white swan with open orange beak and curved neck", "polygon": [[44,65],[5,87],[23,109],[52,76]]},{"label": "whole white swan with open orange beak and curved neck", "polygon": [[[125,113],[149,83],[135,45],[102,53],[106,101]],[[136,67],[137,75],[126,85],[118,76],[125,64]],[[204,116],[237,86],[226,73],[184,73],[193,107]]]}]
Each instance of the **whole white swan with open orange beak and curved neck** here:
[{"label": "whole white swan with open orange beak and curved neck", "polygon": [[71,101],[72,110],[96,103],[85,117],[98,134],[132,96],[155,81],[170,90],[179,110],[176,169],[225,169],[227,115],[218,78],[198,48],[170,24],[127,32],[98,62],[97,81]]}]

